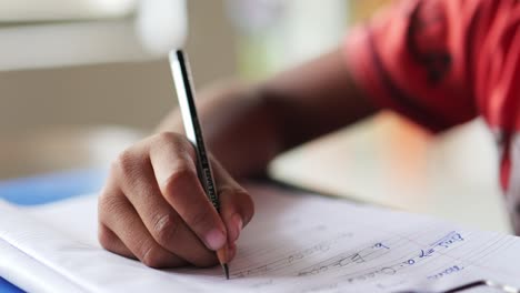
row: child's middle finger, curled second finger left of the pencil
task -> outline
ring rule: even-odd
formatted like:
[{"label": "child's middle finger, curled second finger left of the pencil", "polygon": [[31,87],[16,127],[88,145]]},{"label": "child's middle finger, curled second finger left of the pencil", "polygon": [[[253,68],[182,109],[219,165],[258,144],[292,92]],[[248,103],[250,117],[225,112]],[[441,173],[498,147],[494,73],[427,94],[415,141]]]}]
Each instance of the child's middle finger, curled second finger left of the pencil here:
[{"label": "child's middle finger, curled second finger left of the pencil", "polygon": [[[153,143],[137,144],[127,151],[126,158],[119,163],[119,175],[126,178],[120,181],[123,182],[121,190],[157,243],[197,266],[214,265],[217,263],[214,252],[206,247],[164,200],[150,162],[139,160],[139,154],[148,153],[147,145]],[[133,172],[134,169],[140,172]]]}]

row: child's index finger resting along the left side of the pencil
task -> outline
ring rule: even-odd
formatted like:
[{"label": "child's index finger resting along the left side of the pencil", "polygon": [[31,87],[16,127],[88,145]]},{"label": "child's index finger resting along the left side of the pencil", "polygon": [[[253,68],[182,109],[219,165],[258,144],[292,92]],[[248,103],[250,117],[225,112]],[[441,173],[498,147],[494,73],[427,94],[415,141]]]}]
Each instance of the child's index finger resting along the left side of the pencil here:
[{"label": "child's index finger resting along the left side of the pencil", "polygon": [[183,137],[166,133],[152,145],[150,160],[168,203],[208,249],[222,247],[226,226],[200,184],[192,144]]}]

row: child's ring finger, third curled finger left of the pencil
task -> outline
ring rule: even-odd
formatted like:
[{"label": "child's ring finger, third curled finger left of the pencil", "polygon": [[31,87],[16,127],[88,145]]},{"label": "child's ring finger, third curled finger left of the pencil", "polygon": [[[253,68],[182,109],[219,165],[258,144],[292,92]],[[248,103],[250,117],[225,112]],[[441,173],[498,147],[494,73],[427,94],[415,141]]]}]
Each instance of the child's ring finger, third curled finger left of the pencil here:
[{"label": "child's ring finger, third curled finger left of the pencil", "polygon": [[[150,235],[138,213],[121,192],[103,192],[99,200],[100,221],[142,263],[151,267],[174,267],[186,261],[159,245]],[[111,240],[104,239],[101,240]],[[110,249],[111,242],[102,242]]]}]

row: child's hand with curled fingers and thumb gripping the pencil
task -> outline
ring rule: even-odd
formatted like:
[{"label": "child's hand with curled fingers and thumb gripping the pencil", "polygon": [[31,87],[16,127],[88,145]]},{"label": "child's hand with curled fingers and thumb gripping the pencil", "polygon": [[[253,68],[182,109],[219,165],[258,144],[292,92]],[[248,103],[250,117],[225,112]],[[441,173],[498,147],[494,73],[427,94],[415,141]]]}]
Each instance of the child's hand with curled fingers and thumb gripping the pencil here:
[{"label": "child's hand with curled fingers and thumb gripping the pencil", "polygon": [[184,137],[164,132],[121,153],[99,199],[101,245],[148,266],[171,267],[217,264],[214,251],[228,242],[231,260],[253,203],[211,161],[220,215],[199,182],[196,152]]}]

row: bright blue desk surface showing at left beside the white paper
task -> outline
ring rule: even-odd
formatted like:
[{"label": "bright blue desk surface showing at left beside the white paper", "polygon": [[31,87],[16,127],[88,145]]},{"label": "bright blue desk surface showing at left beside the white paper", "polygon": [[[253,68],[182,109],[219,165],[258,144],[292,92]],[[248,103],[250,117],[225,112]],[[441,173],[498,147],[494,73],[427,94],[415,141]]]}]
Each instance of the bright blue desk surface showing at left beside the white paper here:
[{"label": "bright blue desk surface showing at left beside the white paper", "polygon": [[[19,205],[56,202],[101,189],[106,170],[88,169],[0,181],[0,199]],[[23,292],[0,276],[0,293]]]}]

